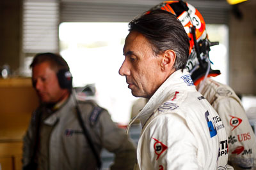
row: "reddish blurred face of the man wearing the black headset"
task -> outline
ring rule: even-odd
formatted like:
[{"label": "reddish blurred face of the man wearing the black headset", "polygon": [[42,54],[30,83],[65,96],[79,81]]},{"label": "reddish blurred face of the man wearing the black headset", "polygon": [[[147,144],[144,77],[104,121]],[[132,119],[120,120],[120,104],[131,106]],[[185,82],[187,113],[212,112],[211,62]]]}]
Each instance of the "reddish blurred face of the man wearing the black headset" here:
[{"label": "reddish blurred face of the man wearing the black headset", "polygon": [[68,90],[61,89],[56,72],[49,62],[42,62],[33,67],[32,81],[42,103],[58,103],[67,96]]}]

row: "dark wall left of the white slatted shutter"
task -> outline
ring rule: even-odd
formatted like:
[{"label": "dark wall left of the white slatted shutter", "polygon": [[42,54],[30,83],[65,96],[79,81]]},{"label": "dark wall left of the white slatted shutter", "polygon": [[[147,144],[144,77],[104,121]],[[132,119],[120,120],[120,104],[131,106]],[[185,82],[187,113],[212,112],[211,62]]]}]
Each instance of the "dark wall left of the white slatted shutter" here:
[{"label": "dark wall left of the white slatted shutter", "polygon": [[0,69],[4,64],[12,71],[19,69],[21,14],[21,0],[0,0]]}]

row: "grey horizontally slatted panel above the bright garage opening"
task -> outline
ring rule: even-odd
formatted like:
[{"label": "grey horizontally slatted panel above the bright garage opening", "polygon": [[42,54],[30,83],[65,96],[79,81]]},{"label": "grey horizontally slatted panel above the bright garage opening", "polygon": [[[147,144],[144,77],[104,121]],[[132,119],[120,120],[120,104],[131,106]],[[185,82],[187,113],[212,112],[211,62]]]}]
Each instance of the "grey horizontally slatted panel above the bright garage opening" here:
[{"label": "grey horizontally slatted panel above the bright garage opening", "polygon": [[[159,0],[61,0],[60,22],[129,22],[161,3]],[[231,6],[225,0],[188,0],[207,24],[227,24]]]}]

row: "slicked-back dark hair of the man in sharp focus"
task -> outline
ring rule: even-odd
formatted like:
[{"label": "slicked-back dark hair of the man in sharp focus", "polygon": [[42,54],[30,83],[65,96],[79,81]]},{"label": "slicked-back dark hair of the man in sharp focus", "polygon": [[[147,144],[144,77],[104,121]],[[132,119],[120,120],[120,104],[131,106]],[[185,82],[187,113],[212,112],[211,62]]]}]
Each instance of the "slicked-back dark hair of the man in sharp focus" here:
[{"label": "slicked-back dark hair of the man in sharp focus", "polygon": [[184,69],[189,56],[189,38],[175,15],[163,10],[150,11],[129,23],[129,31],[138,31],[148,39],[157,55],[166,50],[176,53],[175,70]]}]

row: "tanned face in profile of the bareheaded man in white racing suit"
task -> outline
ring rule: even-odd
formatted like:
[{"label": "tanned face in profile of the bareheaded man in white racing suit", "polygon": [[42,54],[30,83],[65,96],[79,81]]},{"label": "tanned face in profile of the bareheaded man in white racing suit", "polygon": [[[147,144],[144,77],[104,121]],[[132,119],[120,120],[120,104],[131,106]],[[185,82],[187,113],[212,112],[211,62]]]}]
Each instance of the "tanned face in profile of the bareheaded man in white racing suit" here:
[{"label": "tanned face in profile of the bareheaded man in white racing suit", "polygon": [[147,38],[136,31],[125,39],[124,56],[119,74],[125,76],[133,96],[149,99],[163,83],[159,78],[161,57],[154,55]]}]

